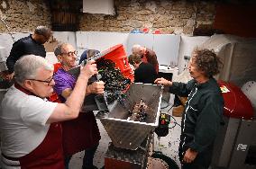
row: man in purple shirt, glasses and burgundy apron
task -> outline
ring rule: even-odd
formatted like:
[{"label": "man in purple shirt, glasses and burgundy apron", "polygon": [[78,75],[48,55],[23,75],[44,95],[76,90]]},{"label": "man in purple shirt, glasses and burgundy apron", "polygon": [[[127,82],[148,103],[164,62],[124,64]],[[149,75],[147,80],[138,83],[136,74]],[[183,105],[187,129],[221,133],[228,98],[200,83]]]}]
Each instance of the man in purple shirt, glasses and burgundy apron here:
[{"label": "man in purple shirt, glasses and burgundy apron", "polygon": [[[61,102],[66,102],[73,93],[76,78],[68,73],[69,69],[76,66],[77,51],[72,45],[62,43],[54,49],[54,54],[59,59],[61,67],[54,75],[54,91],[58,93]],[[90,93],[104,93],[104,82],[98,81],[87,86],[87,95]],[[63,113],[65,113],[63,111]],[[100,140],[99,129],[93,111],[81,112],[76,120],[62,122],[63,149],[65,167],[69,168],[71,157],[85,150],[83,168],[96,168],[93,158]]]}]

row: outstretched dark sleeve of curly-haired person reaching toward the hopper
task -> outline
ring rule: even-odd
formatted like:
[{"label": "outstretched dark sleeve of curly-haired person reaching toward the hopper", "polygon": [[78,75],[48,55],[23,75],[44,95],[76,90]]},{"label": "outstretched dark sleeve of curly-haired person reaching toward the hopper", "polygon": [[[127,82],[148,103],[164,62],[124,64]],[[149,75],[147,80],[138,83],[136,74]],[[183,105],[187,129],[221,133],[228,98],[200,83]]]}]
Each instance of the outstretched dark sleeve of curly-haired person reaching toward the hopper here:
[{"label": "outstretched dark sleeve of curly-haired person reaching toward the hopper", "polygon": [[169,87],[169,93],[178,94],[182,97],[187,97],[188,93],[192,90],[195,82],[190,80],[187,84],[180,82],[172,82],[172,85]]}]

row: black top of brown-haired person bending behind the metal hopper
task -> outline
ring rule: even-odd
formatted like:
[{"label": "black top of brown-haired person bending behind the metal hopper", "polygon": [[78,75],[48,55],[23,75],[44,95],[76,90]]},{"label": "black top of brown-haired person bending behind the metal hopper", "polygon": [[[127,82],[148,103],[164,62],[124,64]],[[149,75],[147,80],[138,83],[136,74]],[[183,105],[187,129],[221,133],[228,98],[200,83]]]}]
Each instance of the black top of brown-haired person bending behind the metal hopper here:
[{"label": "black top of brown-haired person bending behind the metal hopper", "polygon": [[157,78],[157,72],[150,63],[141,63],[134,71],[134,82],[143,84],[154,84]]}]

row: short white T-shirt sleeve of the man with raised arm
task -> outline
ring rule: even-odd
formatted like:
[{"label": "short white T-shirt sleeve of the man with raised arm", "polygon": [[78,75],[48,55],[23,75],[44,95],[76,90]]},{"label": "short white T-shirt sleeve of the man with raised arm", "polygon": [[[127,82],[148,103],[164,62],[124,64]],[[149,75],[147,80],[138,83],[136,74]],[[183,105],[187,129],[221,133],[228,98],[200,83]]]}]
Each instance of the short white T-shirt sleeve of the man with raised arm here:
[{"label": "short white T-shirt sleeve of the man with raised arm", "polygon": [[30,96],[23,105],[22,119],[27,125],[44,126],[51,113],[57,106],[57,102],[47,102],[36,96]]}]

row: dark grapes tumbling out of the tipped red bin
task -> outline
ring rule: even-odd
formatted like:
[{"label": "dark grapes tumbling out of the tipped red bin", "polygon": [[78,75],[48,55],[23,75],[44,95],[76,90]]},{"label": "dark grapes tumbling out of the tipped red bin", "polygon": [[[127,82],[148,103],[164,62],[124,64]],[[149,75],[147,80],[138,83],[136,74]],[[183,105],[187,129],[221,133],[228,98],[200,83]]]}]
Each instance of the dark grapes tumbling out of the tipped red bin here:
[{"label": "dark grapes tumbling out of the tipped red bin", "polygon": [[99,58],[96,60],[97,69],[101,75],[101,79],[105,82],[106,102],[108,104],[118,100],[123,102],[123,91],[127,88],[128,84],[131,84],[129,78],[125,78],[120,69],[115,68],[115,64],[112,60]]}]

